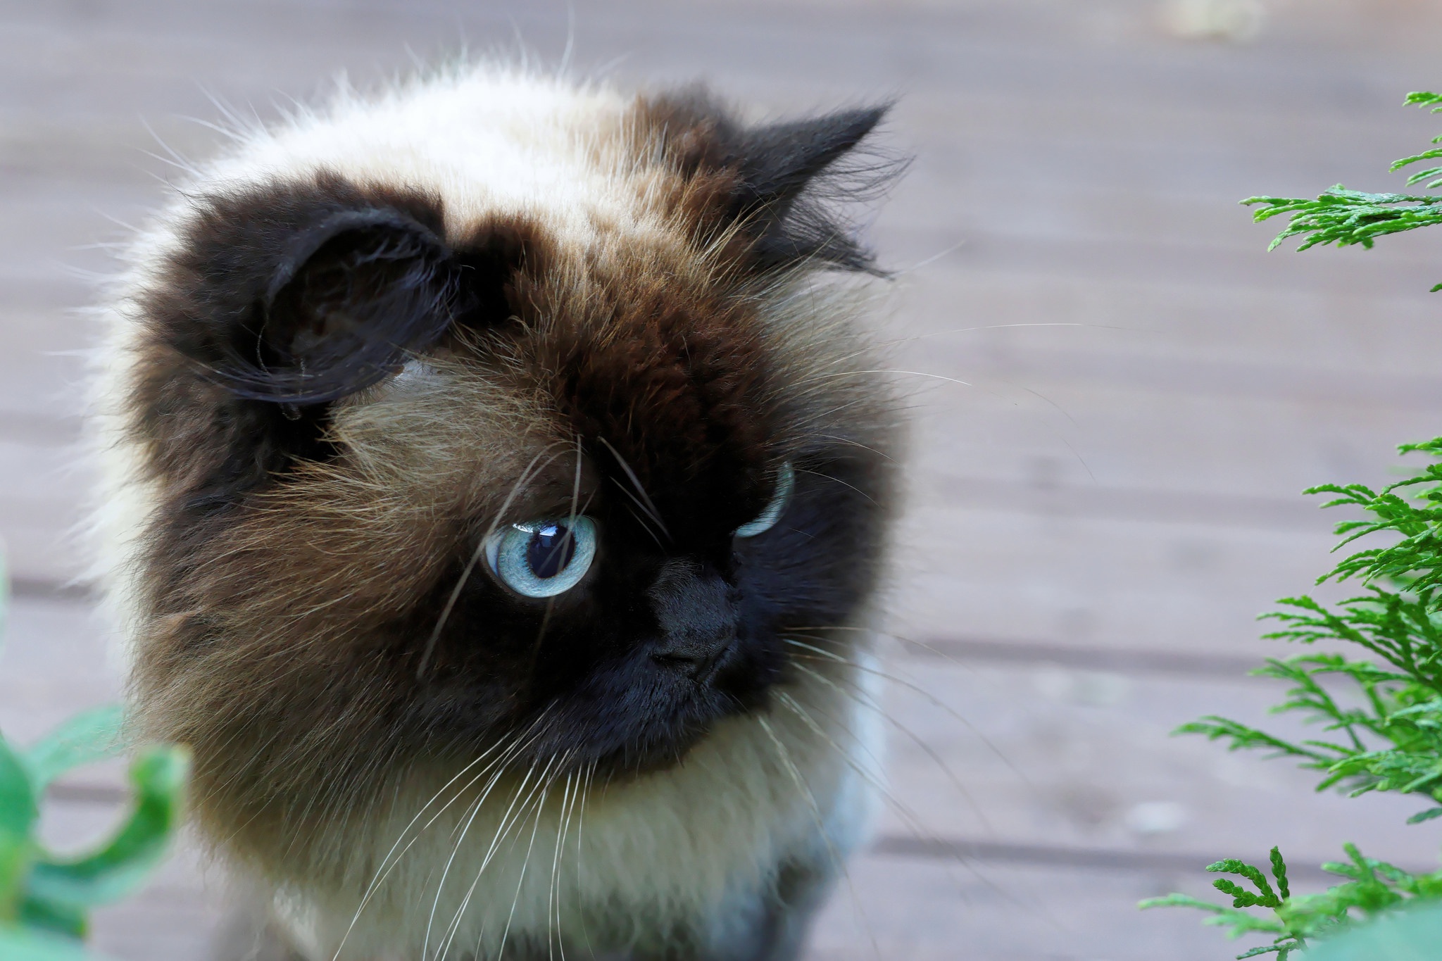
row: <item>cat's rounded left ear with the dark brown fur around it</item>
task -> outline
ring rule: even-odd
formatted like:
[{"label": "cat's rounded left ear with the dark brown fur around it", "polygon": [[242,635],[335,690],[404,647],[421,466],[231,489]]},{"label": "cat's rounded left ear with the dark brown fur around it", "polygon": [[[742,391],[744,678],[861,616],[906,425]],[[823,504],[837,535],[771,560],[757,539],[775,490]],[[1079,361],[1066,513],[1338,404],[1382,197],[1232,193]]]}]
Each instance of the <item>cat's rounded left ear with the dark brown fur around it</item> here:
[{"label": "cat's rounded left ear with the dark brown fur around it", "polygon": [[134,406],[190,507],[336,452],[330,401],[397,370],[469,303],[440,197],[339,174],[189,197],[136,295]]}]

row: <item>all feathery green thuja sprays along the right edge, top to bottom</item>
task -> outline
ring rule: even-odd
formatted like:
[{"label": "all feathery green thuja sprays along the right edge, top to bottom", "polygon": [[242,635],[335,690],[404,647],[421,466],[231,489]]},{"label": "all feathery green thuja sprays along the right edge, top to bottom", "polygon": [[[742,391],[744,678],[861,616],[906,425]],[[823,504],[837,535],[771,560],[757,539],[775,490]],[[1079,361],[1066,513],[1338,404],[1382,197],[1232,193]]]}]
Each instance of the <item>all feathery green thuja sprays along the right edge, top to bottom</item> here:
[{"label": "all feathery green thuja sprays along the right edge, top to bottom", "polygon": [[[1438,94],[1409,94],[1407,102],[1442,112],[1442,95]],[[1432,143],[1442,144],[1442,137]],[[1435,158],[1442,158],[1442,147],[1405,157],[1392,169]],[[1407,183],[1423,180],[1428,189],[1442,186],[1442,166],[1420,170]],[[1289,236],[1302,236],[1298,248],[1302,251],[1318,243],[1370,248],[1377,236],[1442,223],[1442,196],[1360,193],[1340,184],[1315,200],[1250,197],[1243,203],[1266,205],[1255,212],[1256,220],[1291,215],[1286,229],[1272,242],[1273,248]],[[1442,284],[1432,290],[1442,290]],[[1231,751],[1260,749],[1272,756],[1292,758],[1318,772],[1318,791],[1337,787],[1351,797],[1371,791],[1415,794],[1426,807],[1407,820],[1419,823],[1442,817],[1442,438],[1400,450],[1428,455],[1432,462],[1380,491],[1363,484],[1325,484],[1306,491],[1331,494],[1325,507],[1350,506],[1363,511],[1363,519],[1337,524],[1341,542],[1335,549],[1363,537],[1368,539],[1367,545],[1374,543],[1376,535],[1386,537],[1386,543],[1350,553],[1318,578],[1318,584],[1355,584],[1357,594],[1331,605],[1305,594],[1283,598],[1280,609],[1265,615],[1278,622],[1278,630],[1265,635],[1268,638],[1302,644],[1340,641],[1348,650],[1361,648],[1360,657],[1309,653],[1269,658],[1265,667],[1253,671],[1288,681],[1286,697],[1273,713],[1292,713],[1315,723],[1318,736],[1282,738],[1214,715],[1182,725],[1177,733],[1221,741]],[[1276,954],[1285,961],[1293,952],[1311,954],[1309,942],[1328,939],[1361,922],[1428,902],[1442,903],[1442,870],[1412,875],[1364,857],[1351,844],[1344,850],[1348,860],[1322,869],[1345,880],[1321,893],[1292,895],[1286,863],[1273,847],[1272,882],[1259,867],[1234,859],[1207,866],[1210,872],[1246,882],[1231,877],[1213,882],[1231,898],[1230,906],[1187,895],[1154,898],[1141,906],[1206,911],[1211,915],[1206,924],[1218,925],[1234,938],[1270,934],[1270,944],[1237,957]],[[1435,922],[1426,919],[1425,925],[1435,926]],[[1389,928],[1386,932],[1379,929],[1377,935],[1358,932],[1351,941],[1363,945],[1357,938],[1415,938],[1420,929],[1407,922],[1396,926],[1402,935]],[[1394,942],[1402,944],[1400,939]],[[1347,938],[1338,939],[1338,952],[1330,957],[1376,957],[1373,949],[1354,949],[1347,944]]]}]

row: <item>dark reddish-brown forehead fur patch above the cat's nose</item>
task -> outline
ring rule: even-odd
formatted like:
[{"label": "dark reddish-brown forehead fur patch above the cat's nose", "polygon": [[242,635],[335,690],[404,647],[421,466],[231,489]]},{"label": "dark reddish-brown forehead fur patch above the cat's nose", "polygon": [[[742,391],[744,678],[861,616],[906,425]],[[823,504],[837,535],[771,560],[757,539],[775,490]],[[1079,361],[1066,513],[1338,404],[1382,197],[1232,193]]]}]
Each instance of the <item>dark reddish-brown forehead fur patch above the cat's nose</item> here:
[{"label": "dark reddish-brown forehead fur patch above the cat's nose", "polygon": [[774,370],[756,305],[686,267],[617,251],[516,301],[565,428],[647,488],[707,497],[753,487],[774,458]]}]

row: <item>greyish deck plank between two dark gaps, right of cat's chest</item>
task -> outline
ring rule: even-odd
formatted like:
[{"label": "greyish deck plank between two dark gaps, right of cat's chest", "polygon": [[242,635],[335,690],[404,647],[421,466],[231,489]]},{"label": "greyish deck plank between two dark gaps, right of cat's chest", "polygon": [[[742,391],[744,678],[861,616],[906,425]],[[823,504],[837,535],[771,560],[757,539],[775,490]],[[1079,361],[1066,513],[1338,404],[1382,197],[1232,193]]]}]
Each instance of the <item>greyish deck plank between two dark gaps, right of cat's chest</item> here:
[{"label": "greyish deck plank between two dark gaps, right of cat's chest", "polygon": [[[1165,859],[1263,857],[1273,846],[1315,870],[1344,840],[1413,870],[1435,870],[1438,828],[1409,826],[1428,801],[1312,794],[1314,772],[1260,754],[1226,754],[1181,723],[1218,713],[1288,738],[1317,736],[1269,718],[1283,684],[1086,670],[1057,663],[996,664],[888,658],[881,703],[890,728],[890,800],[883,847],[898,854],[959,841],[991,863],[1106,852],[1119,867]],[[1305,817],[1299,817],[1305,813]],[[1032,844],[1031,854],[985,844]],[[1051,852],[1051,853],[1047,853]],[[1129,854],[1138,854],[1131,859]],[[940,856],[937,853],[933,857]]]}]

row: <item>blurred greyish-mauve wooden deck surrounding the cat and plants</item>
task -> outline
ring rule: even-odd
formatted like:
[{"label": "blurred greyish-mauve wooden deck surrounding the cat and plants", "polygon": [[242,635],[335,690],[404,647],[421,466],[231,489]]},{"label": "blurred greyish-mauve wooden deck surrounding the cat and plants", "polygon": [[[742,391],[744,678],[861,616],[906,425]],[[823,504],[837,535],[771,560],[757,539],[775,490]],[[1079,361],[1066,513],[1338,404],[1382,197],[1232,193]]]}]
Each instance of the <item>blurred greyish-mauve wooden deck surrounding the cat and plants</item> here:
[{"label": "blurred greyish-mauve wooden deck surrounding the cat and plants", "polygon": [[[1268,255],[1236,206],[1399,189],[1387,163],[1442,133],[1402,107],[1442,88],[1439,27],[1420,0],[4,0],[0,726],[27,741],[118,692],[65,537],[78,308],[170,151],[205,157],[225,111],[273,120],[340,72],[570,48],[578,75],[702,78],[777,115],[897,98],[884,137],[916,157],[870,226],[916,372],[893,804],[812,958],[1230,958],[1136,899],[1272,844],[1301,890],[1347,840],[1435,867],[1439,823],[1403,826],[1420,803],[1314,795],[1168,732],[1278,699],[1244,676],[1285,653],[1253,618],[1328,568],[1337,520],[1301,488],[1386,483],[1393,445],[1442,432],[1438,239]],[[76,843],[121,801],[114,772],[72,778],[48,830]],[[97,945],[205,958],[224,902],[186,847]]]}]

